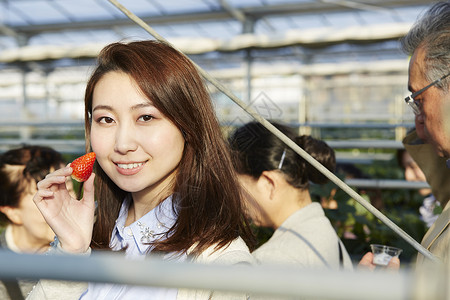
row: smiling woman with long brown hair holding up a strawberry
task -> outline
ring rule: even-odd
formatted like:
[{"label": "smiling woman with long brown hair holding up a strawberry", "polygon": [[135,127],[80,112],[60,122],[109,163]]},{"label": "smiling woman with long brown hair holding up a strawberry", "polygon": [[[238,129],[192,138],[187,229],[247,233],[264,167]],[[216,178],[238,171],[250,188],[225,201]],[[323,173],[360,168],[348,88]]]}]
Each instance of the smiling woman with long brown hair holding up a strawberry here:
[{"label": "smiling woman with long brown hair holding up a strawberry", "polygon": [[[38,184],[34,201],[59,249],[125,249],[204,263],[253,262],[227,145],[197,70],[155,41],[105,47],[85,94],[94,173],[81,201],[69,197],[66,167]],[[95,183],[94,183],[95,177]],[[95,213],[95,202],[98,208]],[[207,291],[89,284],[81,299],[209,299]],[[242,297],[245,297],[243,295]]]}]

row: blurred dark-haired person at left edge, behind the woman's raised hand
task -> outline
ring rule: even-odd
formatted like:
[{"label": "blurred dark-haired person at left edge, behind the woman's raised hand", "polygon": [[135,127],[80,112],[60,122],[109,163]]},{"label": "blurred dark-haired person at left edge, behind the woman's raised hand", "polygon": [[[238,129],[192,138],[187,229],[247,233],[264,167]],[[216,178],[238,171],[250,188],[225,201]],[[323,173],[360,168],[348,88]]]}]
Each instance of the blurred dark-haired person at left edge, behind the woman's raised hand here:
[{"label": "blurred dark-haired person at left edge, behind the woman's raised hand", "polygon": [[[43,253],[55,234],[33,202],[37,183],[65,165],[59,152],[43,146],[23,146],[0,155],[0,247],[17,253]],[[71,181],[68,182],[69,186]],[[23,295],[36,281],[20,280]],[[0,299],[9,299],[0,285]]]}]

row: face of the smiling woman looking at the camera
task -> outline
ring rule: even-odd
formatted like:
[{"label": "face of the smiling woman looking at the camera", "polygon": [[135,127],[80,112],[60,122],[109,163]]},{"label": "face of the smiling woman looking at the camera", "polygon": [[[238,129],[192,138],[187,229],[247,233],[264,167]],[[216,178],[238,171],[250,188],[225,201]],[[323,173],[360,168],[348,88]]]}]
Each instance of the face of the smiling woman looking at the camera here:
[{"label": "face of the smiling woman looking at the camera", "polygon": [[104,172],[132,193],[167,191],[184,150],[181,131],[125,73],[109,72],[92,103],[91,146]]}]

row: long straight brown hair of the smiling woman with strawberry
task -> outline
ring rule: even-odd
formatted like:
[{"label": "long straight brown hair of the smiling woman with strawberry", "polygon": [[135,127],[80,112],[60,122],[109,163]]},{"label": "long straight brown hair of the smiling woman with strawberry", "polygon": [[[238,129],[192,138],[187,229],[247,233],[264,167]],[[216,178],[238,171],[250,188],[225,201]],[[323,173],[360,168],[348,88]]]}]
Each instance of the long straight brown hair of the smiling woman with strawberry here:
[{"label": "long straight brown hair of the smiling woman with strawberry", "polygon": [[[182,53],[156,41],[113,43],[98,57],[85,94],[85,126],[90,150],[92,97],[95,85],[110,71],[128,74],[153,105],[183,133],[186,144],[173,188],[176,223],[154,251],[197,255],[207,247],[224,247],[238,236],[252,246],[239,184],[210,96],[195,66]],[[97,221],[93,248],[108,249],[112,229],[127,192],[95,164]]]}]

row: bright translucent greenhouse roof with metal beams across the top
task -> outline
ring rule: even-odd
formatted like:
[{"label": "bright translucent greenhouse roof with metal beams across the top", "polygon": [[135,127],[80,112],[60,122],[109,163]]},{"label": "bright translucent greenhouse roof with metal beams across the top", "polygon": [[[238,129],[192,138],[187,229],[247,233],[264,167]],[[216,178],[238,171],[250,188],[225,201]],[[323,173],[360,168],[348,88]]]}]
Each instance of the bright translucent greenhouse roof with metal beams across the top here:
[{"label": "bright translucent greenhouse roof with metal beams across the top", "polygon": [[[0,0],[0,62],[94,57],[113,41],[152,38],[112,2]],[[419,0],[119,2],[191,54],[397,40],[429,5]]]}]

